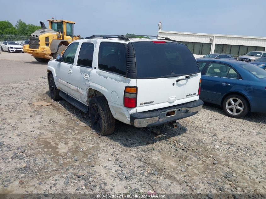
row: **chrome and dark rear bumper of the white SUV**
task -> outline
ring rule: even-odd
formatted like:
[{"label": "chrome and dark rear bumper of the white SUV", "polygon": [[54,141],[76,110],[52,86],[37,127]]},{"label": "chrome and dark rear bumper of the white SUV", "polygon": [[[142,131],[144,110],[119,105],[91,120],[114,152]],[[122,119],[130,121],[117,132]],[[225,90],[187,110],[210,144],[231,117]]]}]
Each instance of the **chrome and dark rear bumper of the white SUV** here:
[{"label": "chrome and dark rear bumper of the white SUV", "polygon": [[[203,101],[198,100],[149,112],[133,113],[130,115],[130,124],[135,127],[149,127],[173,122],[195,115],[201,111],[202,105]],[[167,116],[168,112],[174,112],[174,114]]]}]

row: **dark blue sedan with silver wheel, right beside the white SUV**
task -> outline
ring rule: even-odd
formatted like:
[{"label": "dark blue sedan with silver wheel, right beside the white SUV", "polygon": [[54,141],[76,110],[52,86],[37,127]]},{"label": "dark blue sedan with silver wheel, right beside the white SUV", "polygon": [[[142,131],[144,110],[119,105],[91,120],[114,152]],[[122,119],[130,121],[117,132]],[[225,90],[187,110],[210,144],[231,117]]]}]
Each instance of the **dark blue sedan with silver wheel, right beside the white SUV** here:
[{"label": "dark blue sedan with silver wheel, right beside the white SUV", "polygon": [[233,118],[249,111],[266,113],[266,70],[234,60],[197,60],[201,71],[200,98],[221,105]]}]

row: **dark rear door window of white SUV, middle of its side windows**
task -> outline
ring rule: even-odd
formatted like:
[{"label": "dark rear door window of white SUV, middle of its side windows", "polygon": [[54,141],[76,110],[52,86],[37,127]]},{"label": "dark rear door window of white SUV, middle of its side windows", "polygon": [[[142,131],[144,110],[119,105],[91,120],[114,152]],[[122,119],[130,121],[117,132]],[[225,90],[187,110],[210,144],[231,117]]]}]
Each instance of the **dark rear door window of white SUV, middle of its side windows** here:
[{"label": "dark rear door window of white SUV, middle of its side windows", "polygon": [[77,65],[92,67],[93,51],[93,43],[83,43],[78,54]]}]

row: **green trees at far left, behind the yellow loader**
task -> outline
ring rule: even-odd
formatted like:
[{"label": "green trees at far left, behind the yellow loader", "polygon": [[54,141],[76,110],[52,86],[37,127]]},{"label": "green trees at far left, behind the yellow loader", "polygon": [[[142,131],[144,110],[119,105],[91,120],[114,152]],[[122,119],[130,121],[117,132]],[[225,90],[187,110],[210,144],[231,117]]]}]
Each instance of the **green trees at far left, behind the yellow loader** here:
[{"label": "green trees at far left, behind the yellow loader", "polygon": [[9,21],[0,21],[0,34],[30,36],[35,30],[41,29],[41,26],[26,24],[21,19],[13,26]]}]

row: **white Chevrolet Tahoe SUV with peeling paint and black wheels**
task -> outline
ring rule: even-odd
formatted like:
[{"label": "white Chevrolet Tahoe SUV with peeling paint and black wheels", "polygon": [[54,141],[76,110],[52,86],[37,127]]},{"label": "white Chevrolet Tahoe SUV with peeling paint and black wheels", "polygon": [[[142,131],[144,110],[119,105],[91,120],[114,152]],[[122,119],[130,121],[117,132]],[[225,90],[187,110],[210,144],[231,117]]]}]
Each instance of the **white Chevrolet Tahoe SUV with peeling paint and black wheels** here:
[{"label": "white Chevrolet Tahoe SUV with peeling paint and black wheels", "polygon": [[203,102],[195,58],[183,44],[154,37],[93,35],[73,41],[48,62],[51,98],[89,113],[99,135],[112,134],[115,119],[149,127],[198,113]]}]

